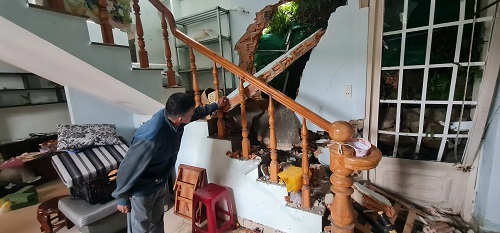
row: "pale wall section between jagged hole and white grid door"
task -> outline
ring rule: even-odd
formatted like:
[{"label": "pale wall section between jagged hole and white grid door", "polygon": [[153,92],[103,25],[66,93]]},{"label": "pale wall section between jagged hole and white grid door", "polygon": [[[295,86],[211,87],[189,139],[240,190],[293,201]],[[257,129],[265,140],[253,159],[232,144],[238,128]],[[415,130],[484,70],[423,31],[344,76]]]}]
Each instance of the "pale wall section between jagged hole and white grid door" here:
[{"label": "pale wall section between jagged hole and white grid door", "polygon": [[[296,101],[331,122],[363,119],[367,44],[368,7],[360,9],[357,0],[349,0],[331,15],[312,50]],[[344,98],[344,85],[352,85],[352,98]],[[307,127],[321,130],[310,122]]]}]

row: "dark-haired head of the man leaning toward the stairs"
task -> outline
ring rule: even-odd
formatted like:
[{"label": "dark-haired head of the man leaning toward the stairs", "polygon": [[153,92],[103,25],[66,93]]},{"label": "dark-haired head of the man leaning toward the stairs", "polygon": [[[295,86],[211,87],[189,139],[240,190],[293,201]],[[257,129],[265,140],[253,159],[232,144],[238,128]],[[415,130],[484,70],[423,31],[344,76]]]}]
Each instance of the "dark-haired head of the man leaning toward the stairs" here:
[{"label": "dark-haired head of the man leaning toward the stairs", "polygon": [[171,95],[165,104],[165,111],[168,118],[175,125],[187,124],[194,114],[194,99],[185,93],[175,93]]}]

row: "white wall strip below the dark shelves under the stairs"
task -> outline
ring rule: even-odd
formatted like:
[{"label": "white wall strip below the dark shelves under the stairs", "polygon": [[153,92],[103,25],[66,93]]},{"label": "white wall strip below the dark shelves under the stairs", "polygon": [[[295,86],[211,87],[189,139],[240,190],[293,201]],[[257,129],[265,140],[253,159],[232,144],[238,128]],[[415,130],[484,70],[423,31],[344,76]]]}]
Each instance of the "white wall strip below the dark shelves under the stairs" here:
[{"label": "white wall strip below the dark shelves under the stairs", "polygon": [[56,132],[57,124],[69,124],[66,103],[2,108],[0,141],[29,137],[30,133]]}]

